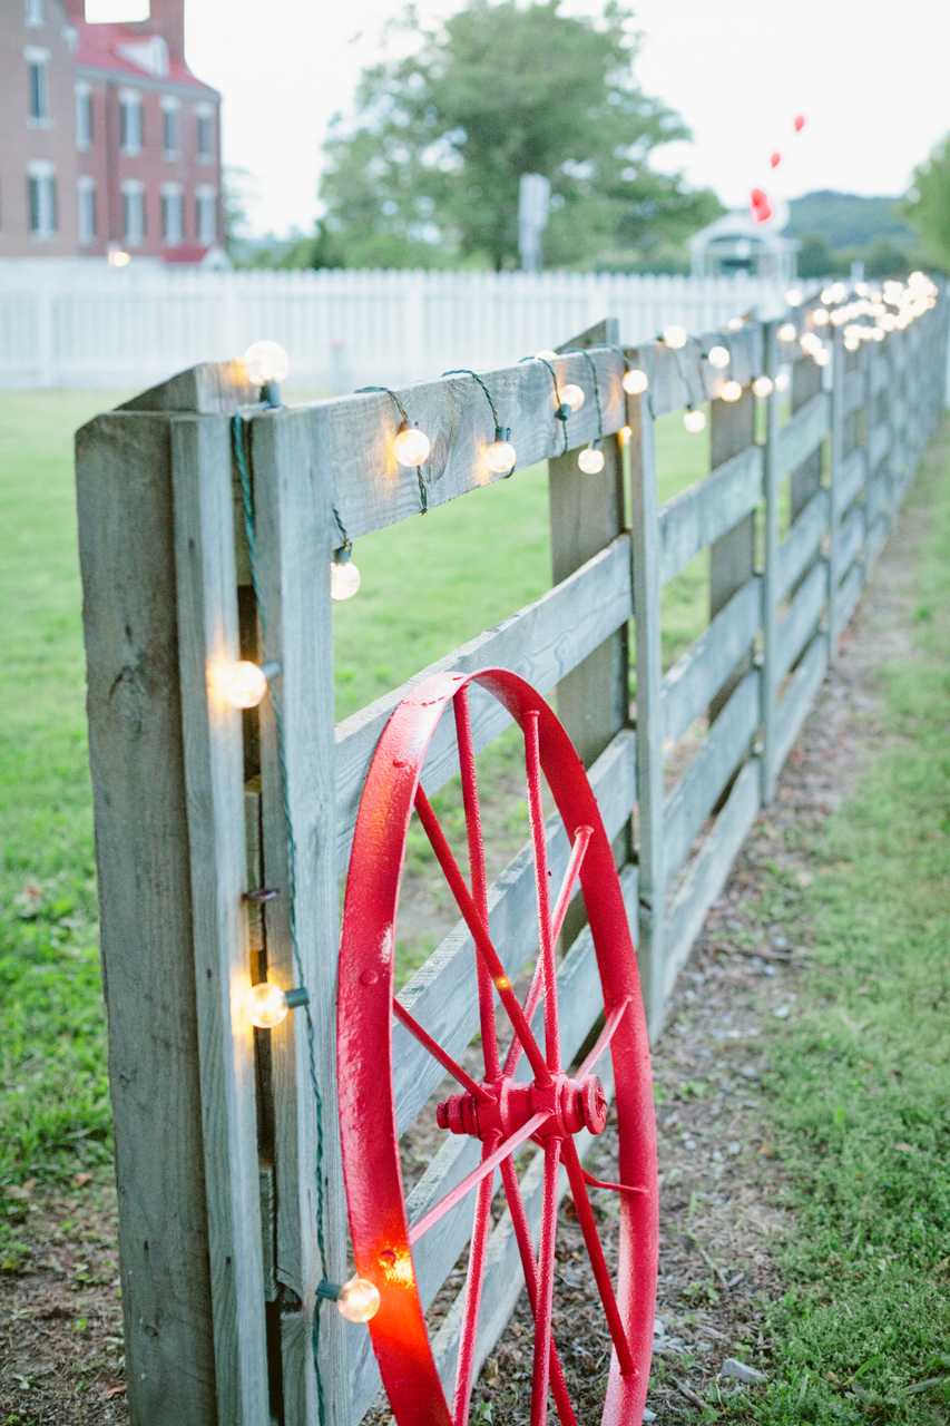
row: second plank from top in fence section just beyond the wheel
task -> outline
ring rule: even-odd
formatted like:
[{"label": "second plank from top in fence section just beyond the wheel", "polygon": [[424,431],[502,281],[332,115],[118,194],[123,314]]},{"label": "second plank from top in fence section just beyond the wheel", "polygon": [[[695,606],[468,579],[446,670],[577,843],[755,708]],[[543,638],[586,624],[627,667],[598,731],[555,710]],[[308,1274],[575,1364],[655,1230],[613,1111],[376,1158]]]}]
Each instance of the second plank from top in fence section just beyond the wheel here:
[{"label": "second plank from top in fence section just beyond the wheel", "polygon": [[659,512],[660,583],[753,511],[762,499],[763,452],[747,446]]}]

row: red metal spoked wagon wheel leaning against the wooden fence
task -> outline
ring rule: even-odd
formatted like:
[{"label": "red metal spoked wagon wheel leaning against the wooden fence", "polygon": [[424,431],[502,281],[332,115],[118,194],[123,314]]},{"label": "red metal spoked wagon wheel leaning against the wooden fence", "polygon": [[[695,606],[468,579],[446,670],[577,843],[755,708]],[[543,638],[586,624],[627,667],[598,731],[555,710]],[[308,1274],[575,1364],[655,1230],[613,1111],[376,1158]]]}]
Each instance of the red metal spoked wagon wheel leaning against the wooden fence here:
[{"label": "red metal spoked wagon wheel leaning against the wooden fence", "polygon": [[[523,1004],[515,995],[488,931],[485,856],[466,693],[469,683],[492,693],[512,714],[525,739],[539,954]],[[454,704],[458,736],[471,887],[419,784],[427,749],[449,703]],[[542,771],[572,848],[553,910]],[[399,878],[414,809],[476,947],[485,1061],[481,1081],[456,1064],[394,997]],[[583,1065],[569,1075],[561,1064],[559,1051],[555,944],[578,878],[601,974],[605,1027]],[[504,1062],[495,1027],[495,994],[514,1031]],[[543,1048],[531,1030],[539,1004]],[[461,1092],[438,1107],[441,1127],[482,1142],[479,1166],[412,1225],[407,1216],[397,1137],[394,1015],[459,1084]],[[601,1185],[592,1179],[582,1168],[575,1145],[581,1129],[599,1134],[606,1124],[603,1088],[592,1070],[608,1047],[616,1095],[618,1185]],[[516,1081],[515,1068],[522,1052],[532,1078]],[[428,679],[399,704],[379,739],[359,804],[347,883],[339,953],[338,1074],[344,1175],[357,1272],[379,1292],[379,1308],[369,1322],[369,1332],[398,1426],[465,1426],[468,1422],[496,1166],[535,1318],[531,1422],[532,1426],[542,1426],[546,1420],[551,1395],[562,1426],[576,1426],[552,1336],[558,1178],[562,1165],[612,1339],[602,1423],[639,1426],[653,1339],[658,1194],[653,1094],[636,958],[611,844],[583,766],[541,694],[505,669],[482,669],[469,676],[442,673]],[[532,1246],[512,1156],[529,1138],[543,1148],[538,1253]],[[616,1289],[588,1199],[591,1184],[618,1189]],[[412,1246],[468,1192],[474,1192],[475,1211],[455,1392],[449,1406],[429,1346]]]}]

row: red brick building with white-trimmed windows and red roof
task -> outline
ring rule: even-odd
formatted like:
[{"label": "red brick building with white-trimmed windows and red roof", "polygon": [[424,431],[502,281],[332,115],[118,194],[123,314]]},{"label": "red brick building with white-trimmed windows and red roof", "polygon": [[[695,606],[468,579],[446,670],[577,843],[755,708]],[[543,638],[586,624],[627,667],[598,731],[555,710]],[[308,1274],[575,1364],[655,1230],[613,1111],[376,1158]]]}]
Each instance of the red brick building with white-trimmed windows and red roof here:
[{"label": "red brick building with white-trimmed windows and red roof", "polygon": [[0,258],[198,261],[223,240],[221,96],[184,60],[184,0],[87,24],[0,0]]}]

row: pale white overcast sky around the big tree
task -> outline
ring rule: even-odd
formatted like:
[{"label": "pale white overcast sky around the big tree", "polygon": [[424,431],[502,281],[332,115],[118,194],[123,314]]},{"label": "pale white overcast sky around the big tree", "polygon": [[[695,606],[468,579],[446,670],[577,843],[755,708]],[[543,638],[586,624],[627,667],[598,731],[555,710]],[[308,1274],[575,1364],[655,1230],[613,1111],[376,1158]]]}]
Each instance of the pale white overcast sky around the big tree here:
[{"label": "pale white overcast sky around the big tree", "polygon": [[[187,0],[188,61],[224,94],[224,158],[252,174],[254,231],[311,230],[328,121],[399,10],[394,0]],[[753,184],[777,197],[899,194],[950,130],[949,0],[639,0],[636,10],[640,84],[695,134],[658,165],[682,167],[726,204],[745,204]],[[799,111],[807,125],[796,137]],[[775,175],[773,150],[785,155]]]}]

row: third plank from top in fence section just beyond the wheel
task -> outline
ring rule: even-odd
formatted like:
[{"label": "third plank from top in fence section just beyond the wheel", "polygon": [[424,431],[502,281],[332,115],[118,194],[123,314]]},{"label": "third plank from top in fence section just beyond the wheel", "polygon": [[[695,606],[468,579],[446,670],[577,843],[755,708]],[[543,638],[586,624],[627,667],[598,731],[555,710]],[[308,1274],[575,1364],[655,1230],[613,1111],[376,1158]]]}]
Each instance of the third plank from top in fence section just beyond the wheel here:
[{"label": "third plank from top in fence section just beyond the wheel", "polygon": [[733,595],[699,639],[663,674],[663,740],[679,743],[755,639],[762,620],[757,575]]}]

